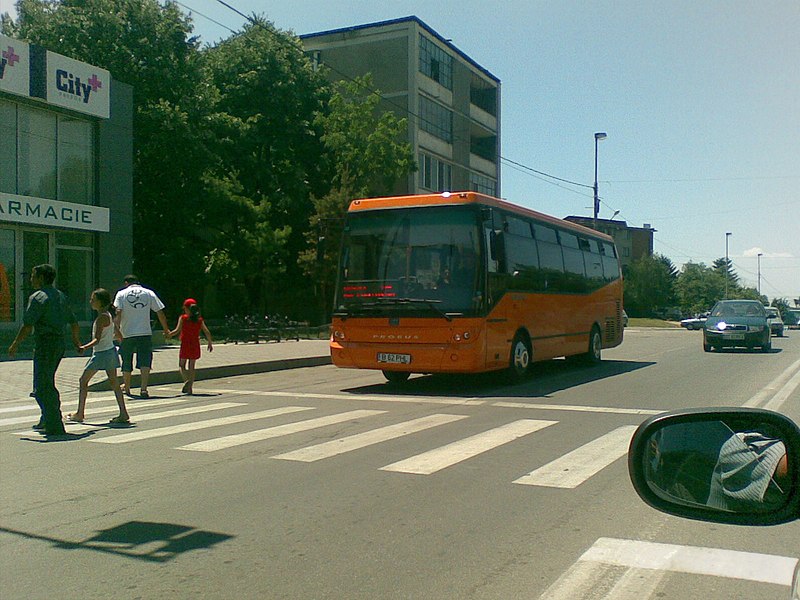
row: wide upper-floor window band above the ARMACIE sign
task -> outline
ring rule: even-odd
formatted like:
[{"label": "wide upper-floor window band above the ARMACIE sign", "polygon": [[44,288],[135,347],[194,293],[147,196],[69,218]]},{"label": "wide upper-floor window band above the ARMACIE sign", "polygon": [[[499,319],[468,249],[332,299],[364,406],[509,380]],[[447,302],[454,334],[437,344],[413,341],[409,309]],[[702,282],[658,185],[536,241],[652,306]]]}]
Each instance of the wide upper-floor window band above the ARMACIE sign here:
[{"label": "wide upper-floor window band above the ARMACIE sign", "polygon": [[0,192],[94,204],[94,125],[0,101]]}]

